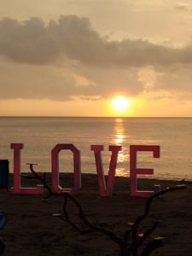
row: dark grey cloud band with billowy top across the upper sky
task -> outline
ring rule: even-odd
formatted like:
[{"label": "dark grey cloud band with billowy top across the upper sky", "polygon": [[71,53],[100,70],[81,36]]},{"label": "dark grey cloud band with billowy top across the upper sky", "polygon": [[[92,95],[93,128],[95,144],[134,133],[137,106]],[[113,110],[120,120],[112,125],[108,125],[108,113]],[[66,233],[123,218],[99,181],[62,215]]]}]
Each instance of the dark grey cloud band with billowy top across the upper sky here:
[{"label": "dark grey cloud band with billowy top across the upper sky", "polygon": [[40,18],[0,20],[0,55],[30,64],[60,59],[97,67],[168,66],[191,63],[192,47],[174,49],[142,39],[110,42],[91,27],[88,19],[67,15],[48,24]]}]

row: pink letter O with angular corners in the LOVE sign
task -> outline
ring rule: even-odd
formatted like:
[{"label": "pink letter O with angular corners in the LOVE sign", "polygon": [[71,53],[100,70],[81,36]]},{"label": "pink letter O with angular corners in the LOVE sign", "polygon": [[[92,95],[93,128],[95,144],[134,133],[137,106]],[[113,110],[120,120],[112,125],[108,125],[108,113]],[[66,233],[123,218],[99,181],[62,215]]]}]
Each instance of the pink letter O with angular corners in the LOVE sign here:
[{"label": "pink letter O with angular corners in the LOVE sign", "polygon": [[[62,149],[69,149],[73,152],[73,170],[74,170],[74,187],[73,189],[63,189],[59,185],[59,168],[58,156]],[[80,151],[73,144],[57,144],[51,151],[52,163],[52,189],[55,192],[73,193],[81,187],[81,170],[80,170]]]}]

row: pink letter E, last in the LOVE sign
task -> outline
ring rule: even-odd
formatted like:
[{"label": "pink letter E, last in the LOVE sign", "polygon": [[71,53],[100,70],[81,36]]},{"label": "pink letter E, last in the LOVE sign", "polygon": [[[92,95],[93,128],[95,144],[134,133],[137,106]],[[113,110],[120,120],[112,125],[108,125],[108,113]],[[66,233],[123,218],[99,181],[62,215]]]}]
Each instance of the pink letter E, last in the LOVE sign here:
[{"label": "pink letter E, last in the LOVE sign", "polygon": [[160,146],[130,146],[130,177],[131,177],[131,196],[148,197],[154,191],[137,191],[137,174],[154,174],[154,169],[137,168],[137,151],[152,151],[154,158],[160,157]]}]

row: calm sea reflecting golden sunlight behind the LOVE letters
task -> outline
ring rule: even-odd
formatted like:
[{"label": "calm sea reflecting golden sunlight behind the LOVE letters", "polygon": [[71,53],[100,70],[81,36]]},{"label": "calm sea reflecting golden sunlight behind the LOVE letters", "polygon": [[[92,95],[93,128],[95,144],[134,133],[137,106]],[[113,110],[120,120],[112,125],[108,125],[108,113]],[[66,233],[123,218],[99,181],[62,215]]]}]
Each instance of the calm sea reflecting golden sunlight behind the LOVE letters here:
[{"label": "calm sea reflecting golden sunlight behind the LOVE letters", "polygon": [[[130,145],[160,145],[160,159],[150,152],[137,154],[137,167],[153,168],[153,177],[192,180],[191,118],[0,118],[0,159],[9,159],[13,172],[10,143],[24,143],[21,172],[26,163],[38,163],[38,172],[51,172],[51,149],[57,143],[73,143],[81,151],[81,170],[96,173],[90,145],[104,145],[103,167],[108,173],[108,145],[122,145],[117,175],[129,176]],[[60,172],[73,172],[73,158],[61,151]]]}]

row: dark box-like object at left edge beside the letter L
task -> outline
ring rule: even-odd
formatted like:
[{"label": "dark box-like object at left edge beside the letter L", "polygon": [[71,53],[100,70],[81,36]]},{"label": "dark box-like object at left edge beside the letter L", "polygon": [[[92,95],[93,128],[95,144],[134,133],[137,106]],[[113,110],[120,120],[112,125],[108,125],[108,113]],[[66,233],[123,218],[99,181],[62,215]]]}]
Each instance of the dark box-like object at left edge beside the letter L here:
[{"label": "dark box-like object at left edge beside the letter L", "polygon": [[0,189],[9,187],[9,160],[0,160]]}]

